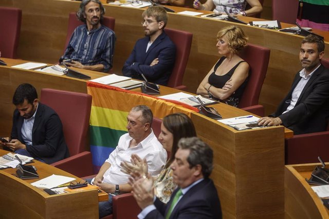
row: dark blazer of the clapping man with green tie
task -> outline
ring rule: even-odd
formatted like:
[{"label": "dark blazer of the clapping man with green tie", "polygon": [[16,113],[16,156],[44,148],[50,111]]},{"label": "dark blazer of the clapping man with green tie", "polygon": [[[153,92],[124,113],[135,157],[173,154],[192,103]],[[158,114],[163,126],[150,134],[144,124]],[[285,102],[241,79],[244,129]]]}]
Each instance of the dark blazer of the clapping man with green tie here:
[{"label": "dark blazer of the clapping man with green tie", "polygon": [[[178,189],[171,195],[168,204],[162,203],[158,198],[154,202],[155,210],[151,211],[145,218],[165,218],[170,204]],[[221,219],[221,203],[218,199],[217,190],[210,179],[205,179],[194,185],[184,194],[172,211],[170,219]]]}]

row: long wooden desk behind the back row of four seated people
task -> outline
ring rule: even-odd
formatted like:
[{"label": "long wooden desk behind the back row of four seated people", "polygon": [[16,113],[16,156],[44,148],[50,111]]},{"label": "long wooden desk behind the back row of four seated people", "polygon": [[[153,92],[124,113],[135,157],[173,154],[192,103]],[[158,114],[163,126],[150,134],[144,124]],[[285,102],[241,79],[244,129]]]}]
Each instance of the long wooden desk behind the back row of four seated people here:
[{"label": "long wooden desk behind the back row of four seated people", "polygon": [[[17,7],[23,10],[22,28],[18,55],[26,60],[56,63],[63,54],[68,14],[77,11],[78,1],[54,0],[6,0],[0,1],[1,6]],[[140,25],[144,9],[126,8],[105,5],[107,16],[116,18],[115,33],[117,36],[114,70],[121,72],[122,66],[129,57],[135,42],[143,37]],[[194,10],[174,8],[176,12]],[[206,13],[211,13],[207,11]],[[245,21],[257,18],[239,17]],[[221,28],[231,25],[230,22],[216,21],[199,16],[187,16],[169,13],[169,28],[176,28],[193,33],[191,53],[185,71],[184,85],[188,91],[195,93],[198,85],[218,60],[216,34]],[[282,33],[276,30],[235,24],[243,28],[249,42],[271,49],[270,61],[260,95],[260,104],[265,107],[265,114],[274,112],[280,101],[290,89],[298,70],[299,50],[302,36]],[[285,27],[285,24],[282,24]],[[295,25],[291,25],[295,26]],[[329,32],[315,31],[325,37],[325,57],[329,57]]]}]

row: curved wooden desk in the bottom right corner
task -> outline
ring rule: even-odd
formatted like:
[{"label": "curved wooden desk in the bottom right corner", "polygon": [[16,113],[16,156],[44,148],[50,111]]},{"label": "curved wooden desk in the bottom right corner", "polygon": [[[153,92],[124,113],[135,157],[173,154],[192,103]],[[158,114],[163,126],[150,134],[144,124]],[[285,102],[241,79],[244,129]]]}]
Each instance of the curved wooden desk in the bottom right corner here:
[{"label": "curved wooden desk in the bottom right corner", "polygon": [[286,165],[284,170],[285,218],[329,218],[328,209],[305,181],[321,164]]}]

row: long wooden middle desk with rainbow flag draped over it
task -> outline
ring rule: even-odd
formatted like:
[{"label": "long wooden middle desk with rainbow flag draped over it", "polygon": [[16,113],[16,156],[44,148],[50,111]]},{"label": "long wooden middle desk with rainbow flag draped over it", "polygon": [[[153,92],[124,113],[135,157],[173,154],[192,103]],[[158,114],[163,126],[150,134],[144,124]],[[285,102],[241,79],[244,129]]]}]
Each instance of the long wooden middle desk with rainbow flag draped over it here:
[{"label": "long wooden middle desk with rainbow flag draped over it", "polygon": [[[11,59],[5,59],[5,62],[11,65]],[[88,74],[87,71],[81,72]],[[39,91],[51,87],[86,92],[86,81],[81,79],[10,67],[0,67],[0,81],[8,81],[3,86],[10,90],[0,96],[1,103],[11,106],[3,108],[8,111],[7,117],[5,113],[2,114],[3,121],[7,120],[7,123],[0,123],[2,131],[7,131],[6,135],[10,133],[10,118],[14,108],[11,104],[12,94],[20,83],[31,83]],[[160,92],[165,95],[178,90],[161,86]],[[93,96],[94,100],[96,98]],[[125,103],[129,105],[129,101]],[[214,107],[224,118],[250,114],[225,104]],[[214,150],[211,178],[221,198],[224,218],[283,217],[284,127],[236,131],[199,113],[192,113],[191,119],[198,136]]]}]

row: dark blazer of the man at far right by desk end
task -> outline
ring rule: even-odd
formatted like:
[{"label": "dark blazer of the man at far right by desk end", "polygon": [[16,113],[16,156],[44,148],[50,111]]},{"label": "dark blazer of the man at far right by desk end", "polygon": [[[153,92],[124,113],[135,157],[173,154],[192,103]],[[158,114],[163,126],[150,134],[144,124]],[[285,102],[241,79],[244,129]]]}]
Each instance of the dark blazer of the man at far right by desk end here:
[{"label": "dark blazer of the man at far right by desk end", "polygon": [[300,79],[298,72],[291,90],[270,116],[279,116],[283,125],[293,130],[294,134],[325,131],[329,116],[329,70],[323,65],[309,78],[294,109],[282,114],[290,105],[291,94]]}]

